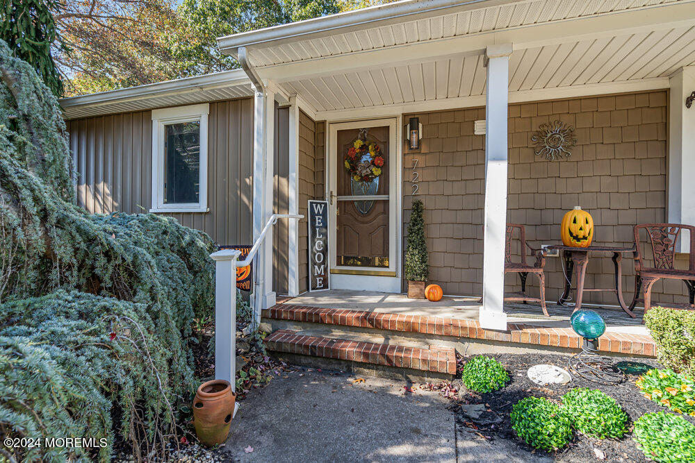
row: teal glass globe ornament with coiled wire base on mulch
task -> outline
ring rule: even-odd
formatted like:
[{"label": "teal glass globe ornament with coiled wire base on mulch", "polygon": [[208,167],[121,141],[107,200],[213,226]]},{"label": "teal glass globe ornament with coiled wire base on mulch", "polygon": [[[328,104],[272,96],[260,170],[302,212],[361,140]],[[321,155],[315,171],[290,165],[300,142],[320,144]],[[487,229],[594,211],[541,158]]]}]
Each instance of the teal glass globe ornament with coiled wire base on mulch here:
[{"label": "teal glass globe ornament with coiled wire base on mulch", "polygon": [[598,354],[598,338],[606,330],[603,318],[594,310],[578,310],[569,319],[575,333],[584,338],[582,351],[567,362],[569,371],[591,382],[614,385],[625,380],[625,375],[609,357]]}]

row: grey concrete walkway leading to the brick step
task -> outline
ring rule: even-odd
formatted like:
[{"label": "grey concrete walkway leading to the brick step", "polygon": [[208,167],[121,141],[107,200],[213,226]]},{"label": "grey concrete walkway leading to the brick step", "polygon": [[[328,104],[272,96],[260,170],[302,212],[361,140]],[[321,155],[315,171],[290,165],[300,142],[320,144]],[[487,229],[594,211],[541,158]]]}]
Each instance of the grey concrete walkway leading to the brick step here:
[{"label": "grey concrete walkway leading to the brick step", "polygon": [[[225,450],[241,462],[535,462],[512,441],[457,429],[452,401],[402,380],[300,369],[250,392]],[[247,453],[249,446],[253,451]]]}]

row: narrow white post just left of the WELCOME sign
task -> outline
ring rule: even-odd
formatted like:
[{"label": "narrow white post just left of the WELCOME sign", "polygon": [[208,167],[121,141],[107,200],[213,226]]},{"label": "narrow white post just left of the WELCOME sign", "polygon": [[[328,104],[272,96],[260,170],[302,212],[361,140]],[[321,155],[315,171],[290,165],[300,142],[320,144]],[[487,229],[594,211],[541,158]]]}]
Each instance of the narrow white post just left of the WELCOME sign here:
[{"label": "narrow white post just left of the WELCOME sign", "polygon": [[[297,97],[290,97],[290,115],[289,115],[289,198],[288,198],[288,213],[299,214],[299,169],[300,169],[300,108],[297,105]],[[288,258],[287,258],[287,292],[289,296],[298,296],[300,294],[299,280],[299,224],[298,220],[289,220],[287,224],[288,230]]]}]

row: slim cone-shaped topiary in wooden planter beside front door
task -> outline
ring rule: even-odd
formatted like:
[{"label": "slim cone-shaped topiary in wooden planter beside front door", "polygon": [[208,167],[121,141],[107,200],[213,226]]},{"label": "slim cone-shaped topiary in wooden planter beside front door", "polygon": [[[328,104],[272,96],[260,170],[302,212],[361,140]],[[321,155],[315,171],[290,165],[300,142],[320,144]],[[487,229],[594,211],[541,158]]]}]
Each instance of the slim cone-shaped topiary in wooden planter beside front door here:
[{"label": "slim cone-shaped topiary in wooden planter beside front door", "polygon": [[418,299],[425,298],[425,282],[430,276],[423,210],[423,201],[419,199],[413,201],[405,250],[405,278],[408,280],[408,297]]}]

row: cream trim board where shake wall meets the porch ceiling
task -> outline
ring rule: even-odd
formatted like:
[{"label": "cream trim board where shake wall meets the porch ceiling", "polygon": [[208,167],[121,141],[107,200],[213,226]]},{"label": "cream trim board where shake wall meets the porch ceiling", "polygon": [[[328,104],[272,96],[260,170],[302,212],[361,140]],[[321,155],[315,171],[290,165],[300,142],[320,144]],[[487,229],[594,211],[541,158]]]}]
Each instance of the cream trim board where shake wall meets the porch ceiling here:
[{"label": "cream trim board where shake wall meets the porch ceiling", "polygon": [[[569,85],[566,87],[509,92],[509,103],[528,103],[530,101],[578,98],[581,96],[647,92],[649,90],[664,90],[667,88],[669,88],[668,77],[656,77],[639,79],[635,81],[620,81],[611,83]],[[414,101],[411,103],[366,106],[363,108],[317,111],[316,118],[318,119],[315,120],[344,121],[348,119],[360,119],[365,117],[391,117],[393,115],[411,114],[415,112],[480,108],[482,106],[485,106],[485,94],[459,96],[457,98],[445,98],[429,101]]]}]

